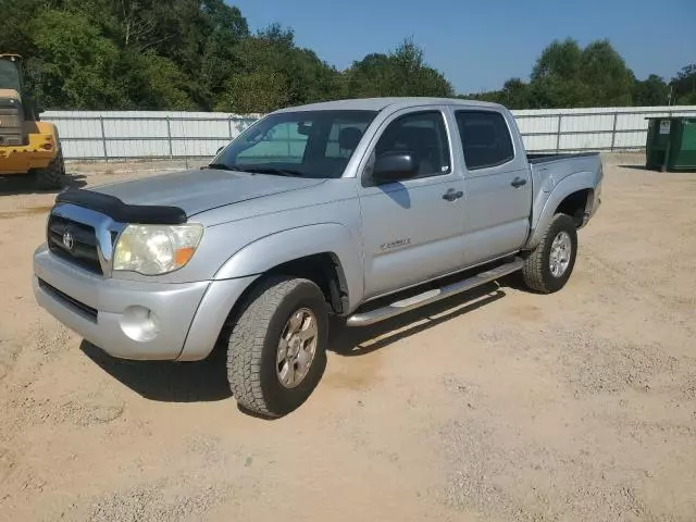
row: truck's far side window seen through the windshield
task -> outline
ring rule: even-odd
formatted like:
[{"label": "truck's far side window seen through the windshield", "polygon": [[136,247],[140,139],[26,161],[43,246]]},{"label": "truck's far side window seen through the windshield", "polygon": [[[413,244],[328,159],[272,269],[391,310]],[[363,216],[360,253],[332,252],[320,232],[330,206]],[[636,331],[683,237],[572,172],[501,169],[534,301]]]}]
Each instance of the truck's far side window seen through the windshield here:
[{"label": "truck's far side window seen through the windshield", "polygon": [[240,163],[302,163],[308,137],[298,133],[297,122],[281,123],[271,127],[251,147],[237,156]]}]

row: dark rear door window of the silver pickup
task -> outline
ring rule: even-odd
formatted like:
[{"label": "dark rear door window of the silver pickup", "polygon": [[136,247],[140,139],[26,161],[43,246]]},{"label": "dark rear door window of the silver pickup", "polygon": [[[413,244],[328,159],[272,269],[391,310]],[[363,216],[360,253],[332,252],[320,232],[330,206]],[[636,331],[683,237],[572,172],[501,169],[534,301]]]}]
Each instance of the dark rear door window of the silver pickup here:
[{"label": "dark rear door window of the silver pickup", "polygon": [[498,112],[457,111],[457,126],[467,169],[501,165],[514,158],[510,130]]}]

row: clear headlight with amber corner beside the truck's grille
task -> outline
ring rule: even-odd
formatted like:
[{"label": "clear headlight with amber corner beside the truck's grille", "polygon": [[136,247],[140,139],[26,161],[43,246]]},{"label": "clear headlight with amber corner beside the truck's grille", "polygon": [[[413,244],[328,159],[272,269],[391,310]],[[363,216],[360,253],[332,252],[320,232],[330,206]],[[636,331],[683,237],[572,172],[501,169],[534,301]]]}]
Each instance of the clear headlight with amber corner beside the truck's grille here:
[{"label": "clear headlight with amber corner beside the truck's grille", "polygon": [[194,257],[203,226],[127,225],[113,253],[113,270],[158,275],[178,270]]}]

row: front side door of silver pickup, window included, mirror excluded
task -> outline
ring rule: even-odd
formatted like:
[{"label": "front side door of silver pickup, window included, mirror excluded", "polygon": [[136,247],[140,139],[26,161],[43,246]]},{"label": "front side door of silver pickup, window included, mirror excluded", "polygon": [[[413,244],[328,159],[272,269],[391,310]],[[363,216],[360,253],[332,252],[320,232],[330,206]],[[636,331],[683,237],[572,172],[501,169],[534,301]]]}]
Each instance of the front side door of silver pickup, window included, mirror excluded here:
[{"label": "front side door of silver pickup, window included, mirror excluded", "polygon": [[[461,268],[464,192],[452,166],[456,130],[449,123],[444,108],[409,109],[390,116],[373,138],[359,183],[366,298]],[[412,153],[418,175],[375,185],[376,158],[394,151]]]}]

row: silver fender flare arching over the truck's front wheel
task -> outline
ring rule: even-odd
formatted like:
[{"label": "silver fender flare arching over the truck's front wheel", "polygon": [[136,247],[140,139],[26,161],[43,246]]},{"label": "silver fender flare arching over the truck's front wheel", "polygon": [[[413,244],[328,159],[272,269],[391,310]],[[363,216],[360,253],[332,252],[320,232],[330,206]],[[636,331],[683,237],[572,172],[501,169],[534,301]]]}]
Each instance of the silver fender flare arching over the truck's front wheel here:
[{"label": "silver fender flare arching over the truck's front wheel", "polygon": [[320,223],[279,231],[237,250],[213,279],[262,274],[279,264],[307,256],[331,253],[343,271],[348,308],[353,310],[364,290],[362,248],[350,231],[338,223]]}]

